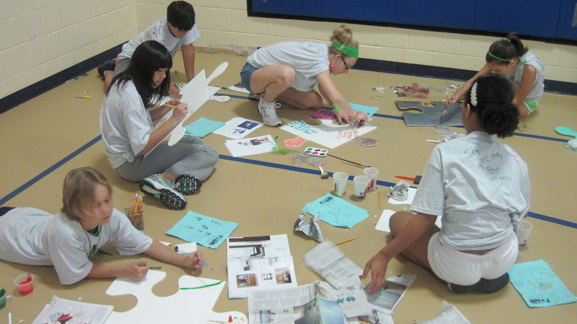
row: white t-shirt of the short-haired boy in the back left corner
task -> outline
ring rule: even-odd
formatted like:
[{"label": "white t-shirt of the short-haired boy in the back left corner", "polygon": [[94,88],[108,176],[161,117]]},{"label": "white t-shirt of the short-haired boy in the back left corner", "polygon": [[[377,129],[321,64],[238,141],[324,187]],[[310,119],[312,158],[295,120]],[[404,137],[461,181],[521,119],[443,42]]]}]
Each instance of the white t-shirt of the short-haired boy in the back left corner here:
[{"label": "white t-shirt of the short-haired boy in the back left corner", "polygon": [[174,58],[176,52],[182,45],[188,45],[194,43],[200,34],[196,28],[196,24],[192,26],[192,29],[186,33],[184,37],[174,37],[168,28],[166,21],[166,16],[155,21],[150,25],[145,31],[134,36],[127,43],[122,45],[122,52],[118,55],[119,59],[130,59],[132,58],[132,53],[138,47],[138,45],[144,43],[145,41],[155,40],[160,44],[164,45],[166,49],[170,52],[170,55]]}]

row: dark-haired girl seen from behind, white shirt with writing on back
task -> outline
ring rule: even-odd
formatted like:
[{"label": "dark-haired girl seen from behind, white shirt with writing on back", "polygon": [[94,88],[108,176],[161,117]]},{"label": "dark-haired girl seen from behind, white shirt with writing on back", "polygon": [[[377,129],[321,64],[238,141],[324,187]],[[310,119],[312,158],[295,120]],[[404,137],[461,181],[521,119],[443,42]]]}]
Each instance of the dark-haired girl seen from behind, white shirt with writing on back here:
[{"label": "dark-haired girl seen from behind, white shirt with writing on back", "polygon": [[529,211],[531,192],[527,164],[497,139],[512,136],[519,122],[513,95],[501,76],[475,80],[461,108],[467,136],[435,147],[411,212],[391,217],[394,239],[365,266],[371,294],[399,253],[454,293],[493,293],[507,285],[519,249],[514,229]]}]

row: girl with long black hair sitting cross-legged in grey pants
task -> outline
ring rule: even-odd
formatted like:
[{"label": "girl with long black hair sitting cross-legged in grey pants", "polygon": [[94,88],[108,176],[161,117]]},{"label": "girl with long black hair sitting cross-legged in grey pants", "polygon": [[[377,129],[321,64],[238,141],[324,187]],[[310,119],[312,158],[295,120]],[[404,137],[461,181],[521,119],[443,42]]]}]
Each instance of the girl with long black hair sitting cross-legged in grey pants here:
[{"label": "girl with long black hair sitting cross-legged in grey pants", "polygon": [[[186,118],[187,105],[168,95],[172,57],[156,41],[140,44],[128,69],[114,77],[100,108],[100,129],[108,161],[124,179],[140,182],[146,195],[170,209],[184,209],[185,195],[200,190],[218,153],[198,137],[169,146],[163,139]],[[168,120],[155,128],[163,117]]]}]

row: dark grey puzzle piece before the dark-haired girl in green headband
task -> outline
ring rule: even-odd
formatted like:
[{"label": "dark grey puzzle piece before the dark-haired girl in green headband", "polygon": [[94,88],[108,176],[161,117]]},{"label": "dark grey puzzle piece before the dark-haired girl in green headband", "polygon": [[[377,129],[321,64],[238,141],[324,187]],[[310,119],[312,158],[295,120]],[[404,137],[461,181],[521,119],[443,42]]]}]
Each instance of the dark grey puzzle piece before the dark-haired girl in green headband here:
[{"label": "dark grey puzzle piece before the dark-haired girl in green headband", "polygon": [[424,106],[421,101],[395,101],[400,110],[420,110],[420,112],[403,112],[403,119],[407,126],[463,126],[461,107],[458,103],[449,105],[445,116],[443,116],[445,104],[442,101],[430,103],[430,106]]}]

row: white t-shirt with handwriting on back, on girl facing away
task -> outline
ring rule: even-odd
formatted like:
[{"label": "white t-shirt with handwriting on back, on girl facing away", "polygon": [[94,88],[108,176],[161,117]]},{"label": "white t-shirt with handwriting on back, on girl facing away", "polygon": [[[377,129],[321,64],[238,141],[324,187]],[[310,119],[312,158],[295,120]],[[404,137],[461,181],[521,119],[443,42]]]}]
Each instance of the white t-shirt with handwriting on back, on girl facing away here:
[{"label": "white t-shirt with handwriting on back, on girl facing away", "polygon": [[521,157],[496,136],[472,132],[435,147],[411,210],[442,216],[440,239],[454,249],[491,249],[515,235],[530,193]]}]

